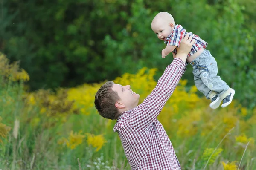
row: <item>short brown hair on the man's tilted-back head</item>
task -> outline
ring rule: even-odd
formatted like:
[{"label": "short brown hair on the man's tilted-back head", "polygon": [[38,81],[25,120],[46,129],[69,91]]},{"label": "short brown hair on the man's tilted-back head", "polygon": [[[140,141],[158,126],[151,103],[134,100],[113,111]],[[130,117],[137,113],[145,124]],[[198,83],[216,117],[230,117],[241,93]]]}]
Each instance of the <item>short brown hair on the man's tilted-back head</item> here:
[{"label": "short brown hair on the man's tilted-back head", "polygon": [[116,101],[120,98],[117,92],[112,90],[114,82],[107,81],[96,92],[94,104],[99,114],[108,119],[117,119],[119,116],[118,109],[115,107]]}]

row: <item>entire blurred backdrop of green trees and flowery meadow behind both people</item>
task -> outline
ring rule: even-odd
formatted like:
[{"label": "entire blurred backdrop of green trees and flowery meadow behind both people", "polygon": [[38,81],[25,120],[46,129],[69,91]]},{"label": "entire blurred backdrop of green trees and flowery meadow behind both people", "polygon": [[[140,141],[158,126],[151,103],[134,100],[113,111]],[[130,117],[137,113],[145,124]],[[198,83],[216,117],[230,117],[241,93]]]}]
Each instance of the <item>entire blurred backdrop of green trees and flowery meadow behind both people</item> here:
[{"label": "entire blurred backdrop of green trees and flowery meadow behind both people", "polygon": [[161,11],[236,90],[211,109],[187,66],[157,117],[182,169],[256,170],[255,0],[0,0],[0,170],[131,170],[94,98],[107,80],[139,103],[154,89],[172,62],[151,30]]}]

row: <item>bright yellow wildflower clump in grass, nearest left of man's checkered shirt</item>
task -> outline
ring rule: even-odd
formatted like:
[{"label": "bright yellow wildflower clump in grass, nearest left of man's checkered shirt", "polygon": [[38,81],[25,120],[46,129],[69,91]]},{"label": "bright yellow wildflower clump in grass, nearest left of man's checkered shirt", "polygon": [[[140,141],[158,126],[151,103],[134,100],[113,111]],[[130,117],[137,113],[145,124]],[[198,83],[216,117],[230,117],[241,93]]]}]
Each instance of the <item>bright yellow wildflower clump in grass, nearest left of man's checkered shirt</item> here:
[{"label": "bright yellow wildflower clump in grass, nearest left of man's checkered shirt", "polygon": [[92,145],[93,147],[97,147],[96,152],[99,151],[106,142],[107,141],[103,135],[93,135],[87,133],[87,144]]}]

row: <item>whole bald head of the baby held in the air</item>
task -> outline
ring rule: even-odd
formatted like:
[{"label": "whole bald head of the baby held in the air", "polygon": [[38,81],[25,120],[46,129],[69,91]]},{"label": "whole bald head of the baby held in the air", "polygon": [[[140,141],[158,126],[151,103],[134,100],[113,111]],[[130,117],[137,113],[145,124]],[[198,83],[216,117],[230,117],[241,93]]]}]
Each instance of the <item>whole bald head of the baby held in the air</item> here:
[{"label": "whole bald head of the baby held in the air", "polygon": [[163,41],[172,33],[174,26],[174,19],[168,12],[159,12],[151,22],[151,29]]}]

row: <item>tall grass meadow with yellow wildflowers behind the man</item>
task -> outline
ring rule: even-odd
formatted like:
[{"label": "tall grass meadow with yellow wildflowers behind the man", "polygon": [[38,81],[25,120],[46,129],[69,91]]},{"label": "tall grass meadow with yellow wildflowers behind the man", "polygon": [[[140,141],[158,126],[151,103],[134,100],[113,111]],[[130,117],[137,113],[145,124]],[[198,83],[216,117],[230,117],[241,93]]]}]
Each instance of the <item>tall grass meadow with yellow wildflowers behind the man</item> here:
[{"label": "tall grass meadow with yellow wildflowers behind the man", "polygon": [[[21,71],[10,70],[3,74],[0,69],[0,169],[131,170],[113,132],[115,121],[100,117],[94,108],[103,83],[28,93],[26,76],[14,79]],[[130,84],[142,102],[156,85],[155,72],[144,68],[114,81]],[[183,170],[256,169],[256,109],[236,101],[210,109],[209,101],[181,80],[158,119]]]}]

